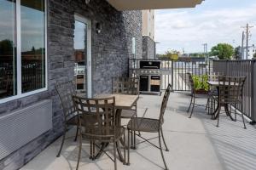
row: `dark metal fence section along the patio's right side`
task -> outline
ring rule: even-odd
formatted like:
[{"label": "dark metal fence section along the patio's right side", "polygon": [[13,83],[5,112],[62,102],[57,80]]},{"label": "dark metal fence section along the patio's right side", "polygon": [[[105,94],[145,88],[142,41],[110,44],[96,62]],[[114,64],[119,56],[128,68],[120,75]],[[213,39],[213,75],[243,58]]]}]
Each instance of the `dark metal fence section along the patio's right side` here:
[{"label": "dark metal fence section along the patio's right side", "polygon": [[[212,63],[212,71],[223,73],[228,77],[247,77],[244,90],[242,112],[256,121],[255,107],[256,103],[254,97],[256,96],[256,87],[253,86],[256,81],[256,60],[214,60]],[[241,105],[238,105],[238,110],[241,111]]]}]

